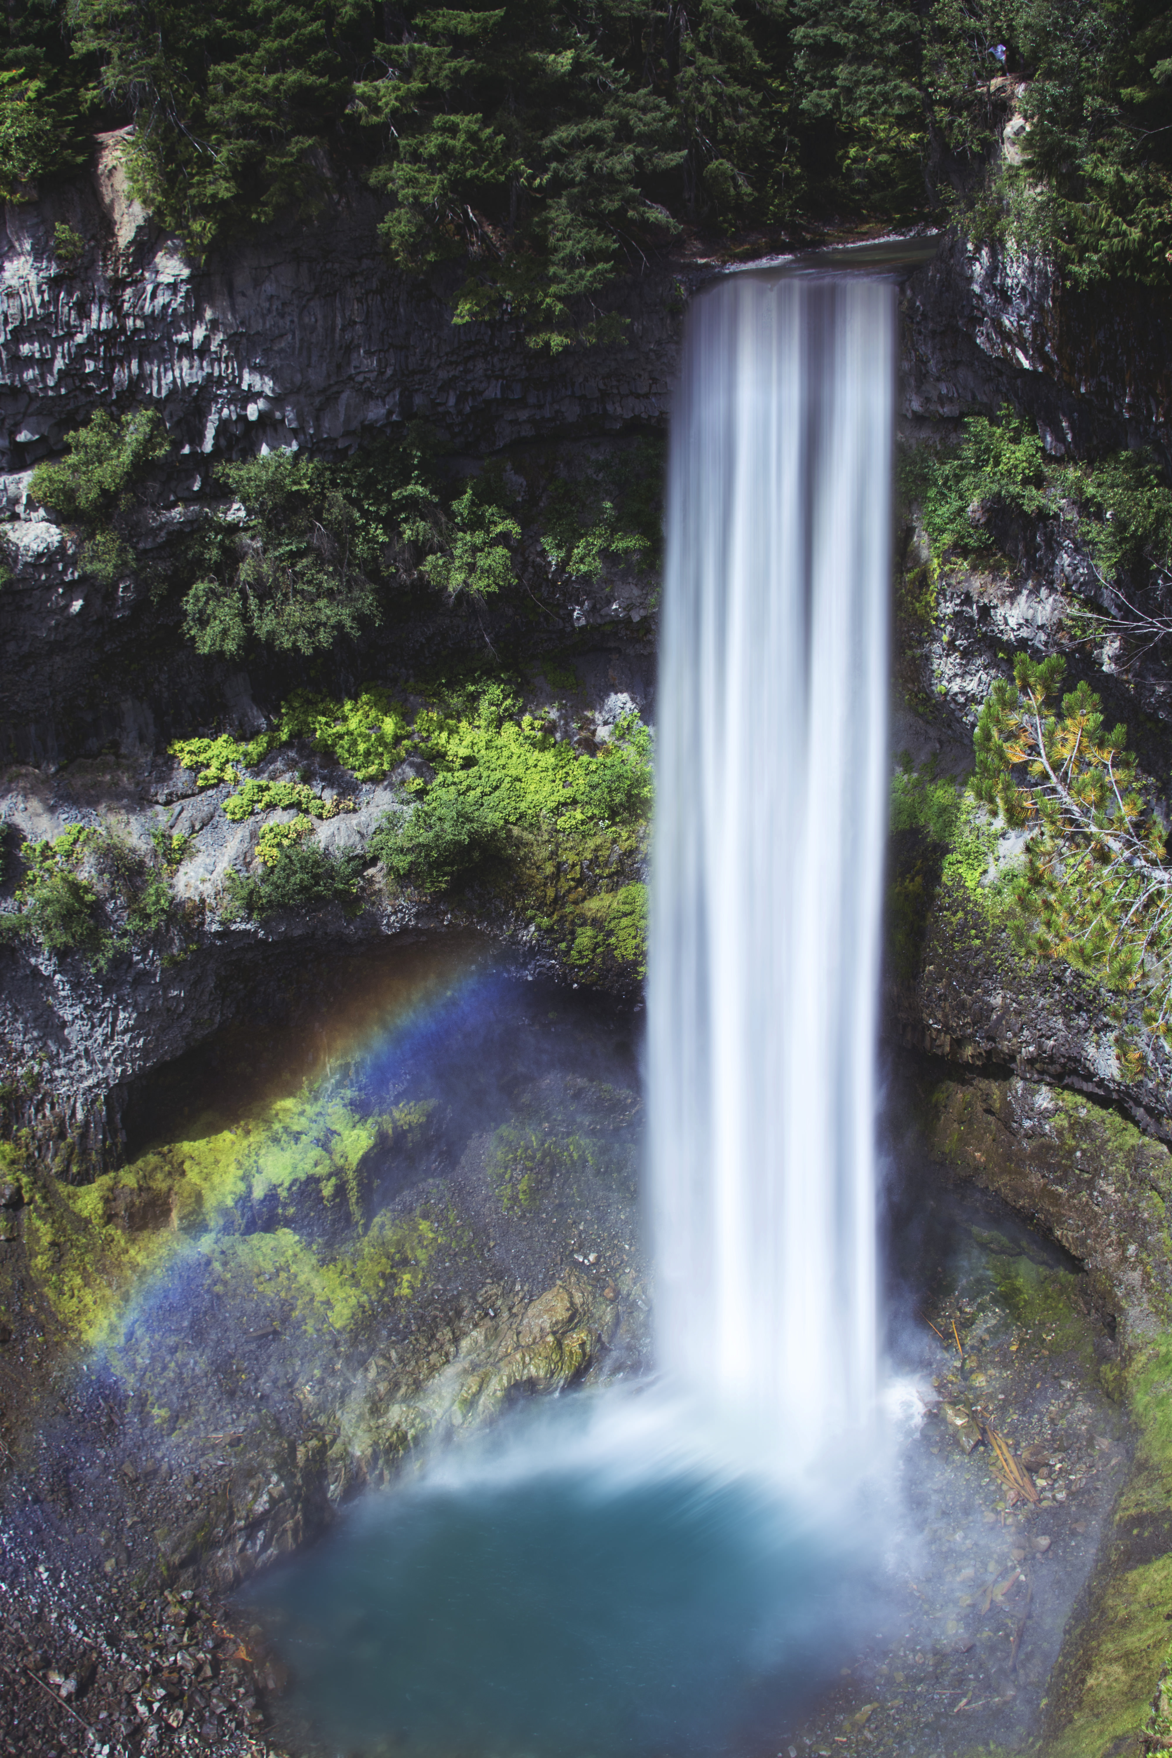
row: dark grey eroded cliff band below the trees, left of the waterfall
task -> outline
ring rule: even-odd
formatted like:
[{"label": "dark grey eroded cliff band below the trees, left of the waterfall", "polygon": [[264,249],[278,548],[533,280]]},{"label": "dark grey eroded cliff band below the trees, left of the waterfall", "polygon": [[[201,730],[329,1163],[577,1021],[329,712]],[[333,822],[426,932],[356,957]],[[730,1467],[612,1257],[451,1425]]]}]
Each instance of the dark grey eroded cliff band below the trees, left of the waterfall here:
[{"label": "dark grey eroded cliff band below the trees, left of the waterfall", "polygon": [[[111,399],[162,408],[184,501],[209,485],[213,455],[346,450],[409,418],[438,422],[469,452],[662,418],[678,332],[669,276],[633,283],[627,346],[594,348],[568,373],[527,348],[517,323],[453,325],[450,287],[388,267],[380,213],[369,193],[339,192],[316,225],[272,229],[195,265],[127,202],[109,144],[95,186],[9,204],[0,468],[28,468]],[[76,267],[54,255],[61,220],[88,243]]]}]

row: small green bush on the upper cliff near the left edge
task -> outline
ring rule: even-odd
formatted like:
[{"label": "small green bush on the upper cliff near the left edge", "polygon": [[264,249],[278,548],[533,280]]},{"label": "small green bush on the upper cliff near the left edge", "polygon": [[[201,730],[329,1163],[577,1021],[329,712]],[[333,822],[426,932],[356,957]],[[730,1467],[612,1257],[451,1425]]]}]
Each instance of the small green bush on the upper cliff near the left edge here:
[{"label": "small green bush on the upper cliff near the left edge", "polygon": [[84,427],[65,440],[60,464],[37,464],[28,492],[63,526],[81,536],[79,561],[104,585],[112,585],[134,566],[125,515],[134,505],[135,483],[170,443],[156,410],[132,410],[114,420],[95,410]]}]

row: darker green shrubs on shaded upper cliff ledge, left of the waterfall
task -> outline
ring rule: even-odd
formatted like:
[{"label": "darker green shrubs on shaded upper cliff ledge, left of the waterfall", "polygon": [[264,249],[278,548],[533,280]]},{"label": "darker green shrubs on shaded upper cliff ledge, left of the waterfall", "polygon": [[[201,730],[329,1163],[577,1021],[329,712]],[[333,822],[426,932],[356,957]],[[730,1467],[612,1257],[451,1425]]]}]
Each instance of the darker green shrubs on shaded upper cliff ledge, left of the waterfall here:
[{"label": "darker green shrubs on shaded upper cliff ledge, left of the waterfall", "polygon": [[[659,450],[650,443],[573,482],[553,469],[541,517],[546,554],[571,577],[652,550]],[[499,462],[455,487],[441,482],[429,436],[378,441],[351,459],[272,452],[223,464],[237,498],[192,540],[181,563],[184,629],[199,652],[242,657],[253,643],[313,654],[357,638],[383,615],[387,592],[411,584],[483,599],[517,584],[517,487]],[[306,728],[300,728],[306,731]],[[292,728],[285,733],[292,737]]]}]

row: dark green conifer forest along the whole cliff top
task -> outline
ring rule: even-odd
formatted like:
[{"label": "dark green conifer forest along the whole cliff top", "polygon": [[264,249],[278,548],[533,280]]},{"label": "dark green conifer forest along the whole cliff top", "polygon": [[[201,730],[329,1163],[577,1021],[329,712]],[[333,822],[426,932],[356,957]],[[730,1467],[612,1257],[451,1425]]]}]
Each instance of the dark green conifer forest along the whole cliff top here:
[{"label": "dark green conifer forest along the whole cliff top", "polygon": [[[608,334],[596,295],[685,227],[958,220],[1082,285],[1172,285],[1172,9],[1158,0],[11,0],[0,179],[134,123],[135,192],[199,253],[337,178],[457,322]],[[1000,155],[1019,118],[1019,153]]]}]

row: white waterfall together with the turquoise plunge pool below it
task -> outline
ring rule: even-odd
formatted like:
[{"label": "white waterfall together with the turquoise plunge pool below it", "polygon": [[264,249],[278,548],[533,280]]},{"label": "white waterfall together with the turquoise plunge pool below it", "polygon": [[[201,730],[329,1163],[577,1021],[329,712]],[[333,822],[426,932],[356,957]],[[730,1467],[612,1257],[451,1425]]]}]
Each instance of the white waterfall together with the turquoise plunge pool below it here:
[{"label": "white waterfall together with the turquoise plunge pool below it", "polygon": [[[880,1635],[843,1436],[877,1378],[893,353],[879,280],[736,276],[691,316],[652,904],[662,1373],[416,1454],[248,1589],[332,1749],[743,1758]],[[847,1468],[807,1494],[829,1449]]]}]

